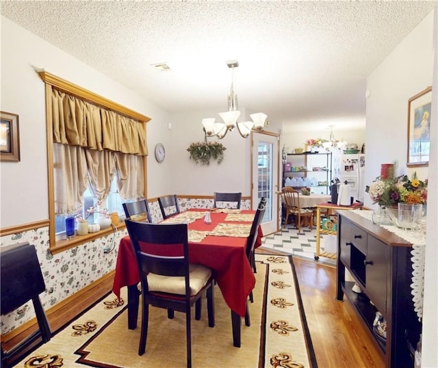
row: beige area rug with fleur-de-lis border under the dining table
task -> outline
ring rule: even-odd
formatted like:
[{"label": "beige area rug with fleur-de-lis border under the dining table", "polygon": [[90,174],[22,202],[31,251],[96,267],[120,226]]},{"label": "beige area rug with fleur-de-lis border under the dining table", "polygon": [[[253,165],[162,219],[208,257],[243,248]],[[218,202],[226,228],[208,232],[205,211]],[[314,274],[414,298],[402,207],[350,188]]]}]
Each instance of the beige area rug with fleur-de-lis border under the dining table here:
[{"label": "beige area rug with fleur-de-lis border under the dining table", "polygon": [[[231,313],[215,287],[216,326],[209,328],[207,305],[201,320],[192,319],[192,367],[316,367],[311,339],[294,275],[292,256],[256,254],[251,325],[242,319],[242,345],[233,346]],[[138,328],[127,328],[123,302],[114,294],[97,303],[40,346],[16,367],[185,367],[185,315],[167,318],[149,308],[146,352],[138,355]]]}]

